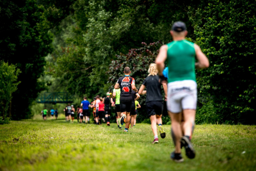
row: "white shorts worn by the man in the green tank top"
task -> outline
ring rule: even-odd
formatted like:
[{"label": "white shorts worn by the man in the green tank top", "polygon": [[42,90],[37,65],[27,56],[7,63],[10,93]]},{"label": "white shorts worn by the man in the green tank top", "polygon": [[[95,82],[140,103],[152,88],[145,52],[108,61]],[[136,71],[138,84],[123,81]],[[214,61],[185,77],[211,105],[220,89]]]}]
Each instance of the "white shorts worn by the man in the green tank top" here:
[{"label": "white shorts worn by the man in the green tank top", "polygon": [[180,113],[184,109],[197,109],[197,83],[193,80],[169,82],[167,110]]}]

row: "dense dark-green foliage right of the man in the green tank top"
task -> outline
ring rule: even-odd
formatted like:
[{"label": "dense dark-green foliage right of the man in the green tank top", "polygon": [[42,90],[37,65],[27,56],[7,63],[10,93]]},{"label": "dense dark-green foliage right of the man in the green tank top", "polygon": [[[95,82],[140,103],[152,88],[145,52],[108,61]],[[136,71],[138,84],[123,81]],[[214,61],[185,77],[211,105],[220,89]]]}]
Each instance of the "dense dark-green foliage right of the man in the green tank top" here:
[{"label": "dense dark-green foliage right of the man in the green tank top", "polygon": [[[255,1],[210,0],[192,16],[196,42],[211,61],[197,72],[199,122],[256,123]],[[200,20],[202,18],[202,20]]]}]

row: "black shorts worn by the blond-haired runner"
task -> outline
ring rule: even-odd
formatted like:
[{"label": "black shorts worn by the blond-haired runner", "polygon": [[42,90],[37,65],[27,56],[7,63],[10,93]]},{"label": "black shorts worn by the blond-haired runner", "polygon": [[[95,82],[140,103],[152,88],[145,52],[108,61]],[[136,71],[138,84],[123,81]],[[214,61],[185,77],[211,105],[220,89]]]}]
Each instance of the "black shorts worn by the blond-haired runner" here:
[{"label": "black shorts worn by the blond-haired runner", "polygon": [[164,103],[163,101],[150,101],[146,103],[148,117],[153,115],[162,115]]}]

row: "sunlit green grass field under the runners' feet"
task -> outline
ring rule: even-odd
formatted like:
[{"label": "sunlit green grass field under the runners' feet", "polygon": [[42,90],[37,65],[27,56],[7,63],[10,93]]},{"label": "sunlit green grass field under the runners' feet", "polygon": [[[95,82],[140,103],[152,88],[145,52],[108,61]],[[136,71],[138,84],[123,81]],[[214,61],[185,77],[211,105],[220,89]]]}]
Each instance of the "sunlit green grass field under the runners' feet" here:
[{"label": "sunlit green grass field under the runners' feet", "polygon": [[183,151],[183,163],[171,161],[170,125],[164,128],[167,137],[152,145],[148,124],[124,133],[114,123],[11,121],[0,125],[0,171],[256,170],[256,126],[197,125],[197,156],[188,159]]}]

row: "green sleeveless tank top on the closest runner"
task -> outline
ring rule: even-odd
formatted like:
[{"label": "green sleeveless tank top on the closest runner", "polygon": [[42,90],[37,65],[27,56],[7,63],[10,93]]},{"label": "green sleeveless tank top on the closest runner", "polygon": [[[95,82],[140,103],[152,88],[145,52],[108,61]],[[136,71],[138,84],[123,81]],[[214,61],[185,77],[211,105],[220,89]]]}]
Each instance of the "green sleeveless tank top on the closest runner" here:
[{"label": "green sleeveless tank top on the closest runner", "polygon": [[168,82],[194,80],[195,47],[187,40],[173,41],[167,44]]}]

